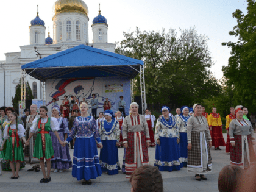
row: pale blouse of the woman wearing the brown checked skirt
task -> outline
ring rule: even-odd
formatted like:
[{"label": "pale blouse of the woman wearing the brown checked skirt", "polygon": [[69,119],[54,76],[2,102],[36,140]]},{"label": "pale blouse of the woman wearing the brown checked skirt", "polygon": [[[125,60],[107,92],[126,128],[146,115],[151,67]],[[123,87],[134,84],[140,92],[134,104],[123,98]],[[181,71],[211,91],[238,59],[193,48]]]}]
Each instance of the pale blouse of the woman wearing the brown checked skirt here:
[{"label": "pale blouse of the woman wearing the brown checked skirt", "polygon": [[208,135],[209,141],[212,141],[207,119],[204,116],[191,116],[188,119],[187,127],[188,143],[191,143],[191,133],[193,131],[204,132],[205,135]]}]

